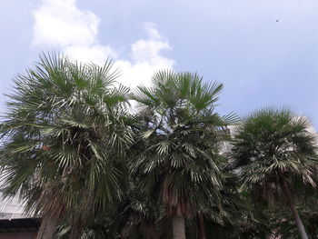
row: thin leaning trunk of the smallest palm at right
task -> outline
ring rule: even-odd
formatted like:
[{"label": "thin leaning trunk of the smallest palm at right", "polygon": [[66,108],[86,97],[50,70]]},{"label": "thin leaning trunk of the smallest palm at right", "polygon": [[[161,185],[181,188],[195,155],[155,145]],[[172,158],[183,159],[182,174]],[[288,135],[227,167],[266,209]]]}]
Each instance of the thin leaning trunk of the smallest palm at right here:
[{"label": "thin leaning trunk of the smallest palm at right", "polygon": [[302,239],[308,239],[308,235],[307,235],[307,233],[306,233],[306,231],[304,229],[302,219],[300,218],[300,216],[298,214],[298,211],[297,211],[297,208],[296,208],[296,206],[294,204],[293,194],[291,193],[287,182],[284,181],[284,180],[283,180],[283,194],[285,194],[287,204],[291,208],[291,211],[292,211],[292,214],[293,214],[293,218],[294,218],[294,220],[295,220],[295,222],[297,224],[297,228],[298,228],[299,234],[301,235],[301,238]]}]

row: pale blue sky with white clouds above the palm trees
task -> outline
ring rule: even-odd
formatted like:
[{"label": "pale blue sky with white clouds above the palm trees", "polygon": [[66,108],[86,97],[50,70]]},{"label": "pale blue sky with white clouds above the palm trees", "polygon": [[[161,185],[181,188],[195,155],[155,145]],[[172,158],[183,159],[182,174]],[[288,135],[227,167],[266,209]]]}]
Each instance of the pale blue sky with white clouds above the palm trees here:
[{"label": "pale blue sky with white clouds above the palm trees", "polygon": [[124,85],[157,69],[224,83],[219,111],[289,105],[318,128],[316,0],[10,0],[0,7],[0,110],[41,51],[120,66]]}]

